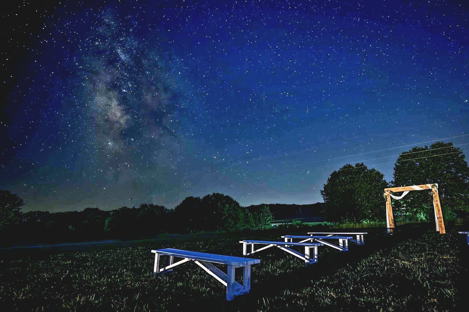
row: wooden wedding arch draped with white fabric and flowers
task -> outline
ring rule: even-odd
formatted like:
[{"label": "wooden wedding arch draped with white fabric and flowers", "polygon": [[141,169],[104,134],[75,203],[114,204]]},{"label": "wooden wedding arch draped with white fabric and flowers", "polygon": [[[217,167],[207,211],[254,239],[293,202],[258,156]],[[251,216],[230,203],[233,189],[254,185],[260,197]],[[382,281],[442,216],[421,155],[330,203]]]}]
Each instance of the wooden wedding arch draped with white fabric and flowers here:
[{"label": "wooden wedding arch draped with white fabric and flowers", "polygon": [[431,189],[433,193],[433,208],[435,211],[436,230],[439,231],[440,234],[446,233],[445,223],[443,223],[443,214],[441,213],[441,206],[438,197],[438,184],[436,183],[414,186],[388,187],[384,189],[386,196],[386,223],[388,233],[392,233],[394,230],[393,207],[391,206],[391,192],[422,191],[429,189]]}]

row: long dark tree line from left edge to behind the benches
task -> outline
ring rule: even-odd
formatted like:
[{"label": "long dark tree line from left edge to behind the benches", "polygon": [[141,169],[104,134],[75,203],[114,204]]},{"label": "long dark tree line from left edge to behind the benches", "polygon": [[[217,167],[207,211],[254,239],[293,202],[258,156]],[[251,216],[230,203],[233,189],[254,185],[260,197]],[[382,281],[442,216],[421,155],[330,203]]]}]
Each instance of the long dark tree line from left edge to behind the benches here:
[{"label": "long dark tree line from left edge to behind the benches", "polygon": [[228,195],[213,193],[187,197],[174,209],[142,203],[114,210],[22,212],[24,201],[8,190],[0,191],[2,244],[13,242],[148,238],[160,233],[243,231],[268,229],[268,206],[241,207]]}]

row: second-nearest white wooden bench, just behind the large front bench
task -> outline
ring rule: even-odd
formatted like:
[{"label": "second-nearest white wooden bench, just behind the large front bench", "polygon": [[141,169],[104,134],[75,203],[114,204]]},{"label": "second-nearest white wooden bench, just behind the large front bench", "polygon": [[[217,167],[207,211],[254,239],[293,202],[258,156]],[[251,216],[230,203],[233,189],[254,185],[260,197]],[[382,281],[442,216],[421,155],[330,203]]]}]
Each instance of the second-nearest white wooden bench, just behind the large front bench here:
[{"label": "second-nearest white wooden bench, just behind the large front bench", "polygon": [[[279,247],[281,250],[286,251],[287,253],[291,253],[294,256],[304,260],[305,264],[313,264],[318,262],[318,246],[323,244],[320,243],[288,243],[288,242],[271,242],[265,240],[242,240],[242,254],[248,256],[253,253],[257,253],[261,250],[270,248],[270,247]],[[247,245],[251,245],[251,252],[248,253]],[[267,245],[265,247],[259,248],[257,250],[254,249],[254,244],[260,245]],[[288,248],[288,246],[303,246],[304,247],[304,255],[302,253],[298,253],[297,251]],[[313,254],[311,254],[311,248],[313,248]]]}]

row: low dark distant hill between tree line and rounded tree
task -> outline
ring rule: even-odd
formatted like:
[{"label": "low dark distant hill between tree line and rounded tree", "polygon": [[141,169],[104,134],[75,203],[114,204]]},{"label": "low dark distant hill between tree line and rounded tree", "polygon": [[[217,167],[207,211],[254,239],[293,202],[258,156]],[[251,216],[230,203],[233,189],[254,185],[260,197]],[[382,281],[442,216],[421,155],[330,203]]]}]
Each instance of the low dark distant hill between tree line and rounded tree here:
[{"label": "low dark distant hill between tree line and rounded tree", "polygon": [[247,208],[255,210],[262,206],[268,206],[270,212],[272,212],[273,220],[284,220],[294,218],[316,218],[324,217],[322,209],[324,208],[323,202],[317,202],[309,205],[296,205],[296,204],[260,204],[251,205]]}]

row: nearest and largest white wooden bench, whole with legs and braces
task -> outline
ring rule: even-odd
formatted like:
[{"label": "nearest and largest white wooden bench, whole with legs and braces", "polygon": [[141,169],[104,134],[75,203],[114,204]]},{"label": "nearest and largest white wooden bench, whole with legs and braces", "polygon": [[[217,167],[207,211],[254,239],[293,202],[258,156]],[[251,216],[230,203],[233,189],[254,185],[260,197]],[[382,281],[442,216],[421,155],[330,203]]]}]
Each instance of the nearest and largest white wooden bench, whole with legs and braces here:
[{"label": "nearest and largest white wooden bench, whole with legs and braces", "polygon": [[[249,292],[251,288],[251,265],[260,263],[261,261],[259,259],[224,256],[212,253],[198,253],[173,248],[152,250],[151,252],[155,253],[155,267],[153,268],[153,275],[167,272],[172,267],[184,262],[194,261],[199,267],[202,267],[205,272],[215,277],[215,279],[227,287],[227,300],[233,300],[234,296]],[[161,255],[169,256],[169,264],[166,267],[159,268],[159,258]],[[178,262],[174,262],[174,257],[183,259]],[[227,274],[222,272],[218,267],[215,267],[211,262],[226,264],[228,266]],[[242,285],[234,280],[234,269],[236,267],[243,268]]]}]

